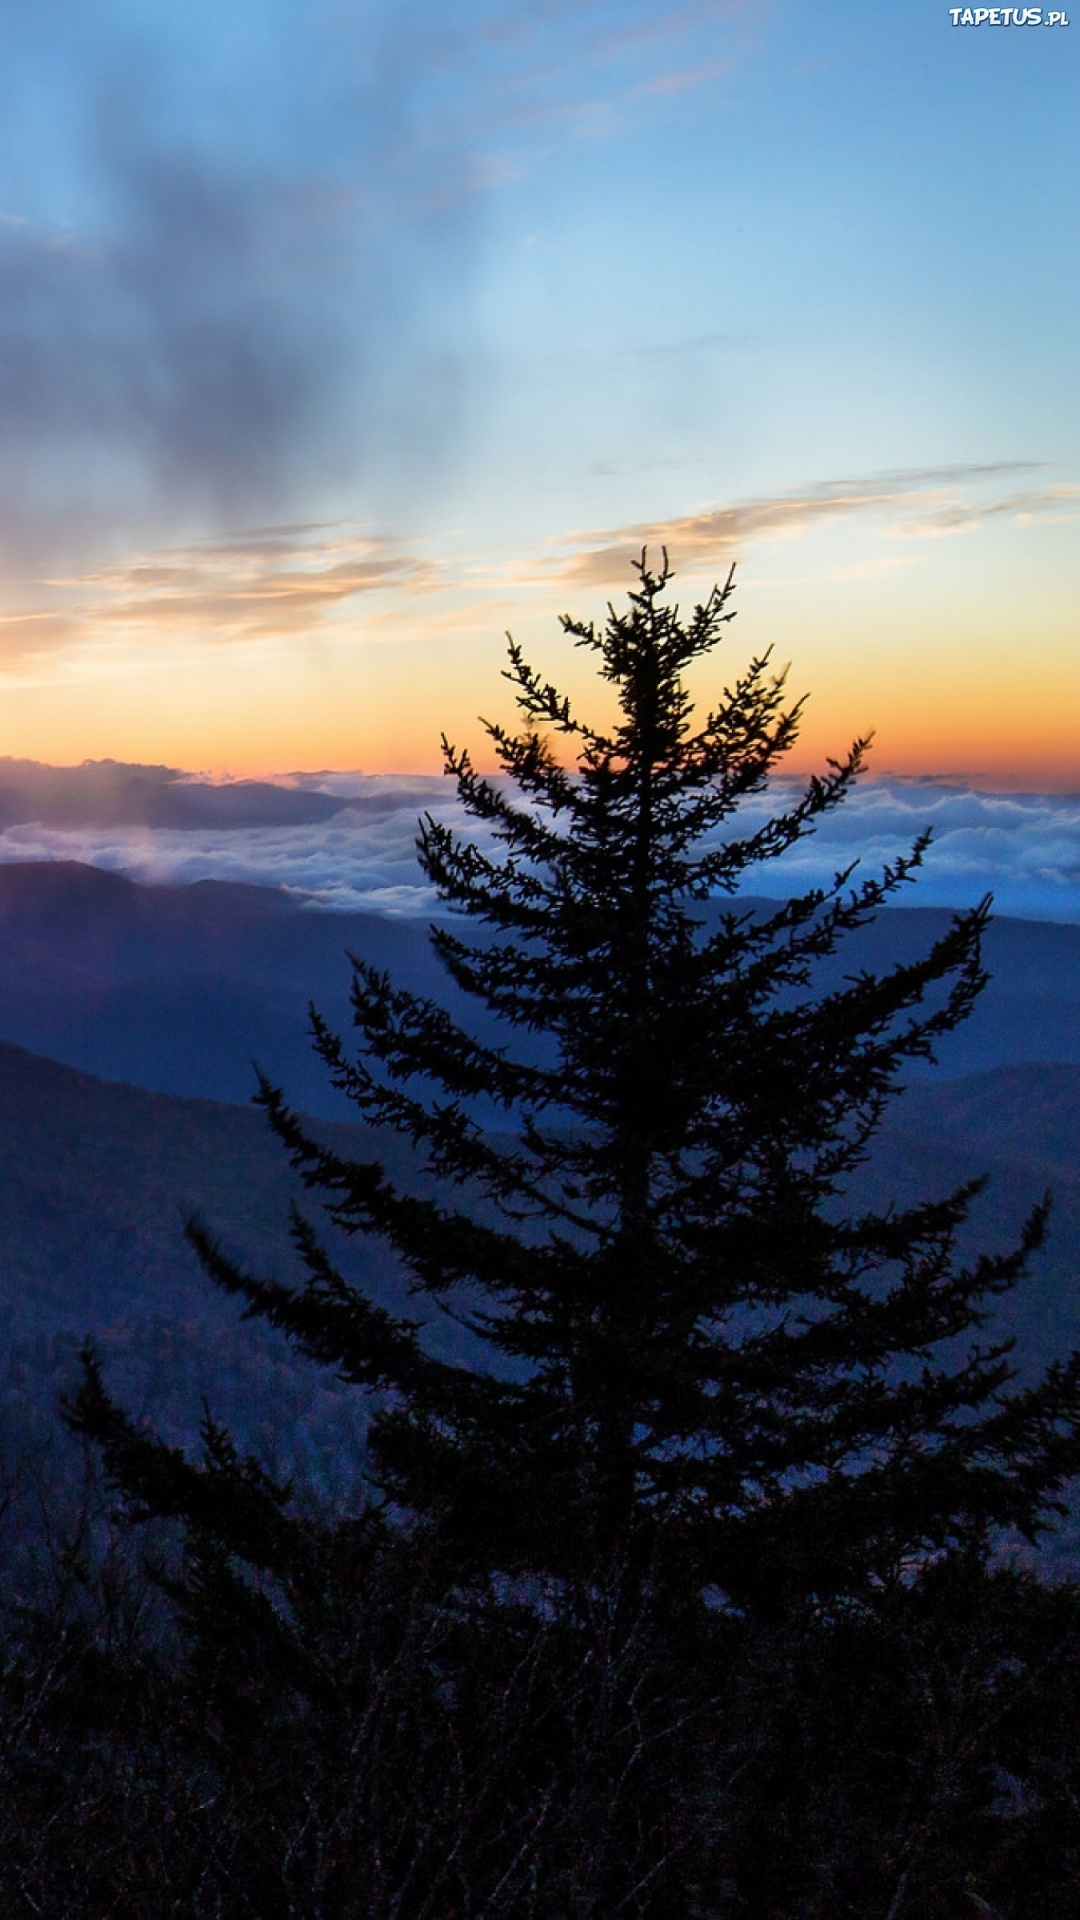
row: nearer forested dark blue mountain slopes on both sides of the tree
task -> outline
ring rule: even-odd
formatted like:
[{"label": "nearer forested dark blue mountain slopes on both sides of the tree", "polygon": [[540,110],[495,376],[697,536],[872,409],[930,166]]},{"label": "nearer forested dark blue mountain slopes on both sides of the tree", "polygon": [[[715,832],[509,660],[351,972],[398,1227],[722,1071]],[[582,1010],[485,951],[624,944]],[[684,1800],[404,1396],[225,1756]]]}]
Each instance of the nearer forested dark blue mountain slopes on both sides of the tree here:
[{"label": "nearer forested dark blue mountain slopes on both sides of the tree", "polygon": [[[400,1140],[319,1125],[417,1183]],[[995,1068],[909,1089],[857,1181],[859,1200],[888,1204],[990,1173],[970,1252],[1013,1244],[1055,1188],[1047,1248],[997,1323],[1026,1371],[1080,1344],[1078,1140],[1078,1066]],[[183,1238],[198,1210],[252,1269],[288,1277],[292,1198],[302,1190],[259,1112],[113,1085],[0,1044],[0,1455],[19,1436],[56,1432],[58,1396],[90,1332],[125,1404],[173,1440],[196,1440],[206,1396],[242,1444],[348,1488],[363,1455],[359,1396],[244,1323]],[[409,1309],[379,1242],[329,1236],[344,1271]],[[429,1338],[444,1354],[467,1350],[450,1319]]]}]

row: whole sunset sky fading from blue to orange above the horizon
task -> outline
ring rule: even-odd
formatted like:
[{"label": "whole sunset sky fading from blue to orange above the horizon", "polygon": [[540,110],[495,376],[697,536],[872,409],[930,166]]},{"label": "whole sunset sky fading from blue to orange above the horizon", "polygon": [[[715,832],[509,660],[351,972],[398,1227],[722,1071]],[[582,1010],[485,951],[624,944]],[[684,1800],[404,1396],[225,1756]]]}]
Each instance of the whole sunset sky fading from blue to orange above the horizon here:
[{"label": "whole sunset sky fading from blue to orange above the horizon", "polygon": [[667,545],[799,768],[1080,793],[1080,15],[953,12],[4,0],[0,755],[430,776]]}]

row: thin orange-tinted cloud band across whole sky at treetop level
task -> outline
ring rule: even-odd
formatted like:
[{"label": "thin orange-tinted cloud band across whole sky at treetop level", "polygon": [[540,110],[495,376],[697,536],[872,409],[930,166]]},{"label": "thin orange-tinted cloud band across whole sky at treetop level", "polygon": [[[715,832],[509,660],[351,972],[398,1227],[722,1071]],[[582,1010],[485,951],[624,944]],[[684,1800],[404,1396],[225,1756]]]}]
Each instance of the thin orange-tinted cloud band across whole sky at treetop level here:
[{"label": "thin orange-tinted cloud band across whole sky at treetop level", "polygon": [[[1036,461],[932,467],[821,480],[784,493],[732,501],[661,522],[569,534],[555,547],[502,570],[490,582],[569,580],[625,586],[628,561],[644,547],[667,547],[680,570],[723,566],[757,541],[798,538],[836,520],[886,520],[894,540],[942,538],[988,520],[1047,520],[1080,515],[1080,486],[1001,482],[1042,474]],[[857,561],[853,574],[905,564],[903,553]],[[0,612],[0,660],[17,660],[79,641],[110,637],[250,641],[313,634],[336,616],[382,595],[382,607],[450,591],[477,597],[477,568],[430,555],[413,541],[354,520],[307,520],[242,528],[183,547],[150,547],[125,561],[58,572],[40,582],[50,607]]]}]

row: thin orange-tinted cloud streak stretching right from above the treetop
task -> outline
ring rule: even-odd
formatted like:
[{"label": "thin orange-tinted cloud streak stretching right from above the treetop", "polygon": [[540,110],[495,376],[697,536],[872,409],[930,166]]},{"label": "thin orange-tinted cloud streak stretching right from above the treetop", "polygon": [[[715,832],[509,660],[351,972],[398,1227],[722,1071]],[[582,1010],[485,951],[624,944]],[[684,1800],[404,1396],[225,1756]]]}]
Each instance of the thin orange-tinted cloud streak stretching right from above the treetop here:
[{"label": "thin orange-tinted cloud streak stretching right from above the treetop", "polygon": [[[1080,497],[1080,488],[1057,486],[1026,493],[1011,493],[1005,501],[967,503],[955,499],[955,490],[984,486],[999,478],[1040,472],[1040,461],[997,461],[990,465],[955,465],[905,468],[871,474],[857,480],[821,480],[790,493],[769,493],[736,501],[732,507],[709,507],[701,513],[678,515],[669,520],[638,520],[621,528],[601,528],[573,534],[559,541],[575,547],[567,559],[544,559],[540,572],[557,572],[563,580],[586,586],[607,586],[623,580],[626,561],[642,547],[667,547],[688,566],[696,561],[715,563],[744,551],[757,540],[796,538],[828,520],[867,513],[894,513],[899,530],[911,534],[947,532],[953,526],[976,524],[994,515],[1036,515]],[[949,499],[949,492],[953,497]]]}]

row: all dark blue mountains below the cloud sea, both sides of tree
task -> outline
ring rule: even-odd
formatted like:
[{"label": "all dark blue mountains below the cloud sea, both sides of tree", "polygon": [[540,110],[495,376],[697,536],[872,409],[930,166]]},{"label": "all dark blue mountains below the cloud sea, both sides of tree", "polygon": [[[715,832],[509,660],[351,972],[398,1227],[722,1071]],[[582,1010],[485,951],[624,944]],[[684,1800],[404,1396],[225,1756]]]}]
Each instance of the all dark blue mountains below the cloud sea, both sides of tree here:
[{"label": "all dark blue mountains below the cloud sea, both sides of tree", "polygon": [[[822,985],[915,958],[947,924],[938,910],[888,910]],[[19,1436],[56,1432],[58,1396],[92,1332],[125,1402],[171,1438],[196,1438],[206,1396],[263,1457],[327,1490],[356,1480],[359,1396],[244,1323],[183,1240],[198,1208],[254,1267],[290,1271],[298,1188],[244,1104],[252,1058],[294,1106],[340,1127],[350,1152],[380,1152],[415,1177],[400,1142],[350,1125],[354,1110],[311,1054],[311,998],[348,1031],[350,950],[505,1039],[448,985],[423,924],[307,910],[269,887],[0,866],[0,1465]],[[1001,1323],[1030,1369],[1080,1344],[1080,927],[999,920],[986,960],[976,1016],[890,1110],[859,1190],[911,1200],[988,1171],[976,1250],[1009,1244],[1055,1188],[1047,1250]],[[342,1252],[379,1298],[407,1304],[380,1246]],[[430,1338],[463,1348],[452,1321]]]}]

